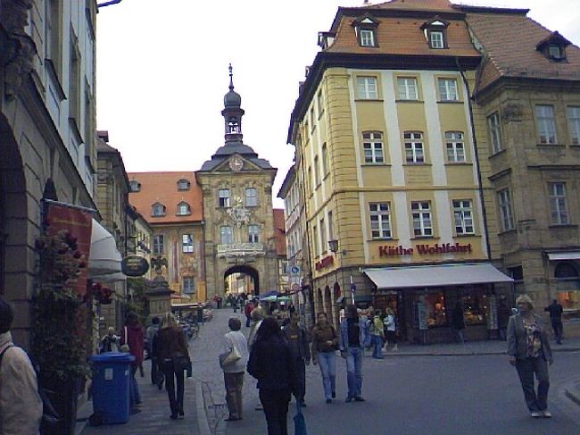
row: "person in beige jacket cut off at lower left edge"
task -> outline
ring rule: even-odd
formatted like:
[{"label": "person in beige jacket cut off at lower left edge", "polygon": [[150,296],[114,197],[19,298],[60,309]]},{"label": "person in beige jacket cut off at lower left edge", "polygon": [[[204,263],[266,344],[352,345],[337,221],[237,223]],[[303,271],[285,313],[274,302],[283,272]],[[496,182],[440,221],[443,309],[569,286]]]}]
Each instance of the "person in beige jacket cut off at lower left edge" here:
[{"label": "person in beige jacket cut off at lower left edge", "polygon": [[37,374],[12,342],[13,317],[12,306],[0,297],[0,433],[37,435],[43,413]]}]

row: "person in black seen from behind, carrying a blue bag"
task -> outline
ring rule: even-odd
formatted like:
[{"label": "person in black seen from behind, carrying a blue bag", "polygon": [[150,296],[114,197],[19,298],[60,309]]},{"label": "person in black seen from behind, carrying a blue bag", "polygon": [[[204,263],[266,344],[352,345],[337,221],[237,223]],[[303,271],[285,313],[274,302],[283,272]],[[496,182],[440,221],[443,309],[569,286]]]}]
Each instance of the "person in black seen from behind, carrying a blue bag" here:
[{"label": "person in black seen from behind, carrying a blue bag", "polygon": [[290,348],[273,317],[261,322],[260,333],[250,351],[248,372],[258,380],[268,435],[288,434],[288,404],[296,391],[296,373]]}]

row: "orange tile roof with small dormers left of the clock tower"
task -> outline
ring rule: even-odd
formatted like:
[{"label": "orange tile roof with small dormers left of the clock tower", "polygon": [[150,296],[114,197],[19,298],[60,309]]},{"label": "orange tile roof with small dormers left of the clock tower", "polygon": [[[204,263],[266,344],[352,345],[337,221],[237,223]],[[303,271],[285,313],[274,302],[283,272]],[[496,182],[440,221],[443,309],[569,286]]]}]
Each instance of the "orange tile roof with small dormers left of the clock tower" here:
[{"label": "orange tile roof with small dormers left of the clock tower", "polygon": [[[139,192],[131,192],[128,201],[137,208],[145,220],[155,223],[201,222],[203,221],[202,188],[195,180],[195,172],[129,172],[129,180],[141,184]],[[178,180],[190,182],[189,190],[178,190]],[[191,214],[178,216],[178,204],[185,201],[191,208]],[[153,204],[165,205],[165,215],[153,217]]]}]

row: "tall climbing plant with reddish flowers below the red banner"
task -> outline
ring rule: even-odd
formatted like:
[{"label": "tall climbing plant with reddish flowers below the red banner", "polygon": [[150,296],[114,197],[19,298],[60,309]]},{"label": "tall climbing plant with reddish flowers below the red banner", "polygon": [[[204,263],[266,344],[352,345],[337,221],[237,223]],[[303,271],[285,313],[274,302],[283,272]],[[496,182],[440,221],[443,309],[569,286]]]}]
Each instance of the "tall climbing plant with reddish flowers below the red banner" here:
[{"label": "tall climbing plant with reddish flowers below the red banner", "polygon": [[40,381],[61,417],[56,433],[74,433],[80,384],[89,374],[87,349],[90,309],[86,295],[74,284],[87,259],[77,239],[66,230],[36,240],[40,255],[40,283],[33,299],[32,350],[40,367]]}]

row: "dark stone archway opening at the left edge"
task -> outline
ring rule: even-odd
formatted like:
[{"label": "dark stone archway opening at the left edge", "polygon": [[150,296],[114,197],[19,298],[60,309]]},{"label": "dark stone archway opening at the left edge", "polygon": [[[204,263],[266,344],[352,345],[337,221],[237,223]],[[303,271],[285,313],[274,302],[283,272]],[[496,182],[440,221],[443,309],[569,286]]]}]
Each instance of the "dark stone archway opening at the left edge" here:
[{"label": "dark stone archway opening at the left edge", "polygon": [[0,114],[0,294],[29,300],[34,273],[27,260],[34,256],[29,240],[29,198],[22,157],[8,121]]}]

